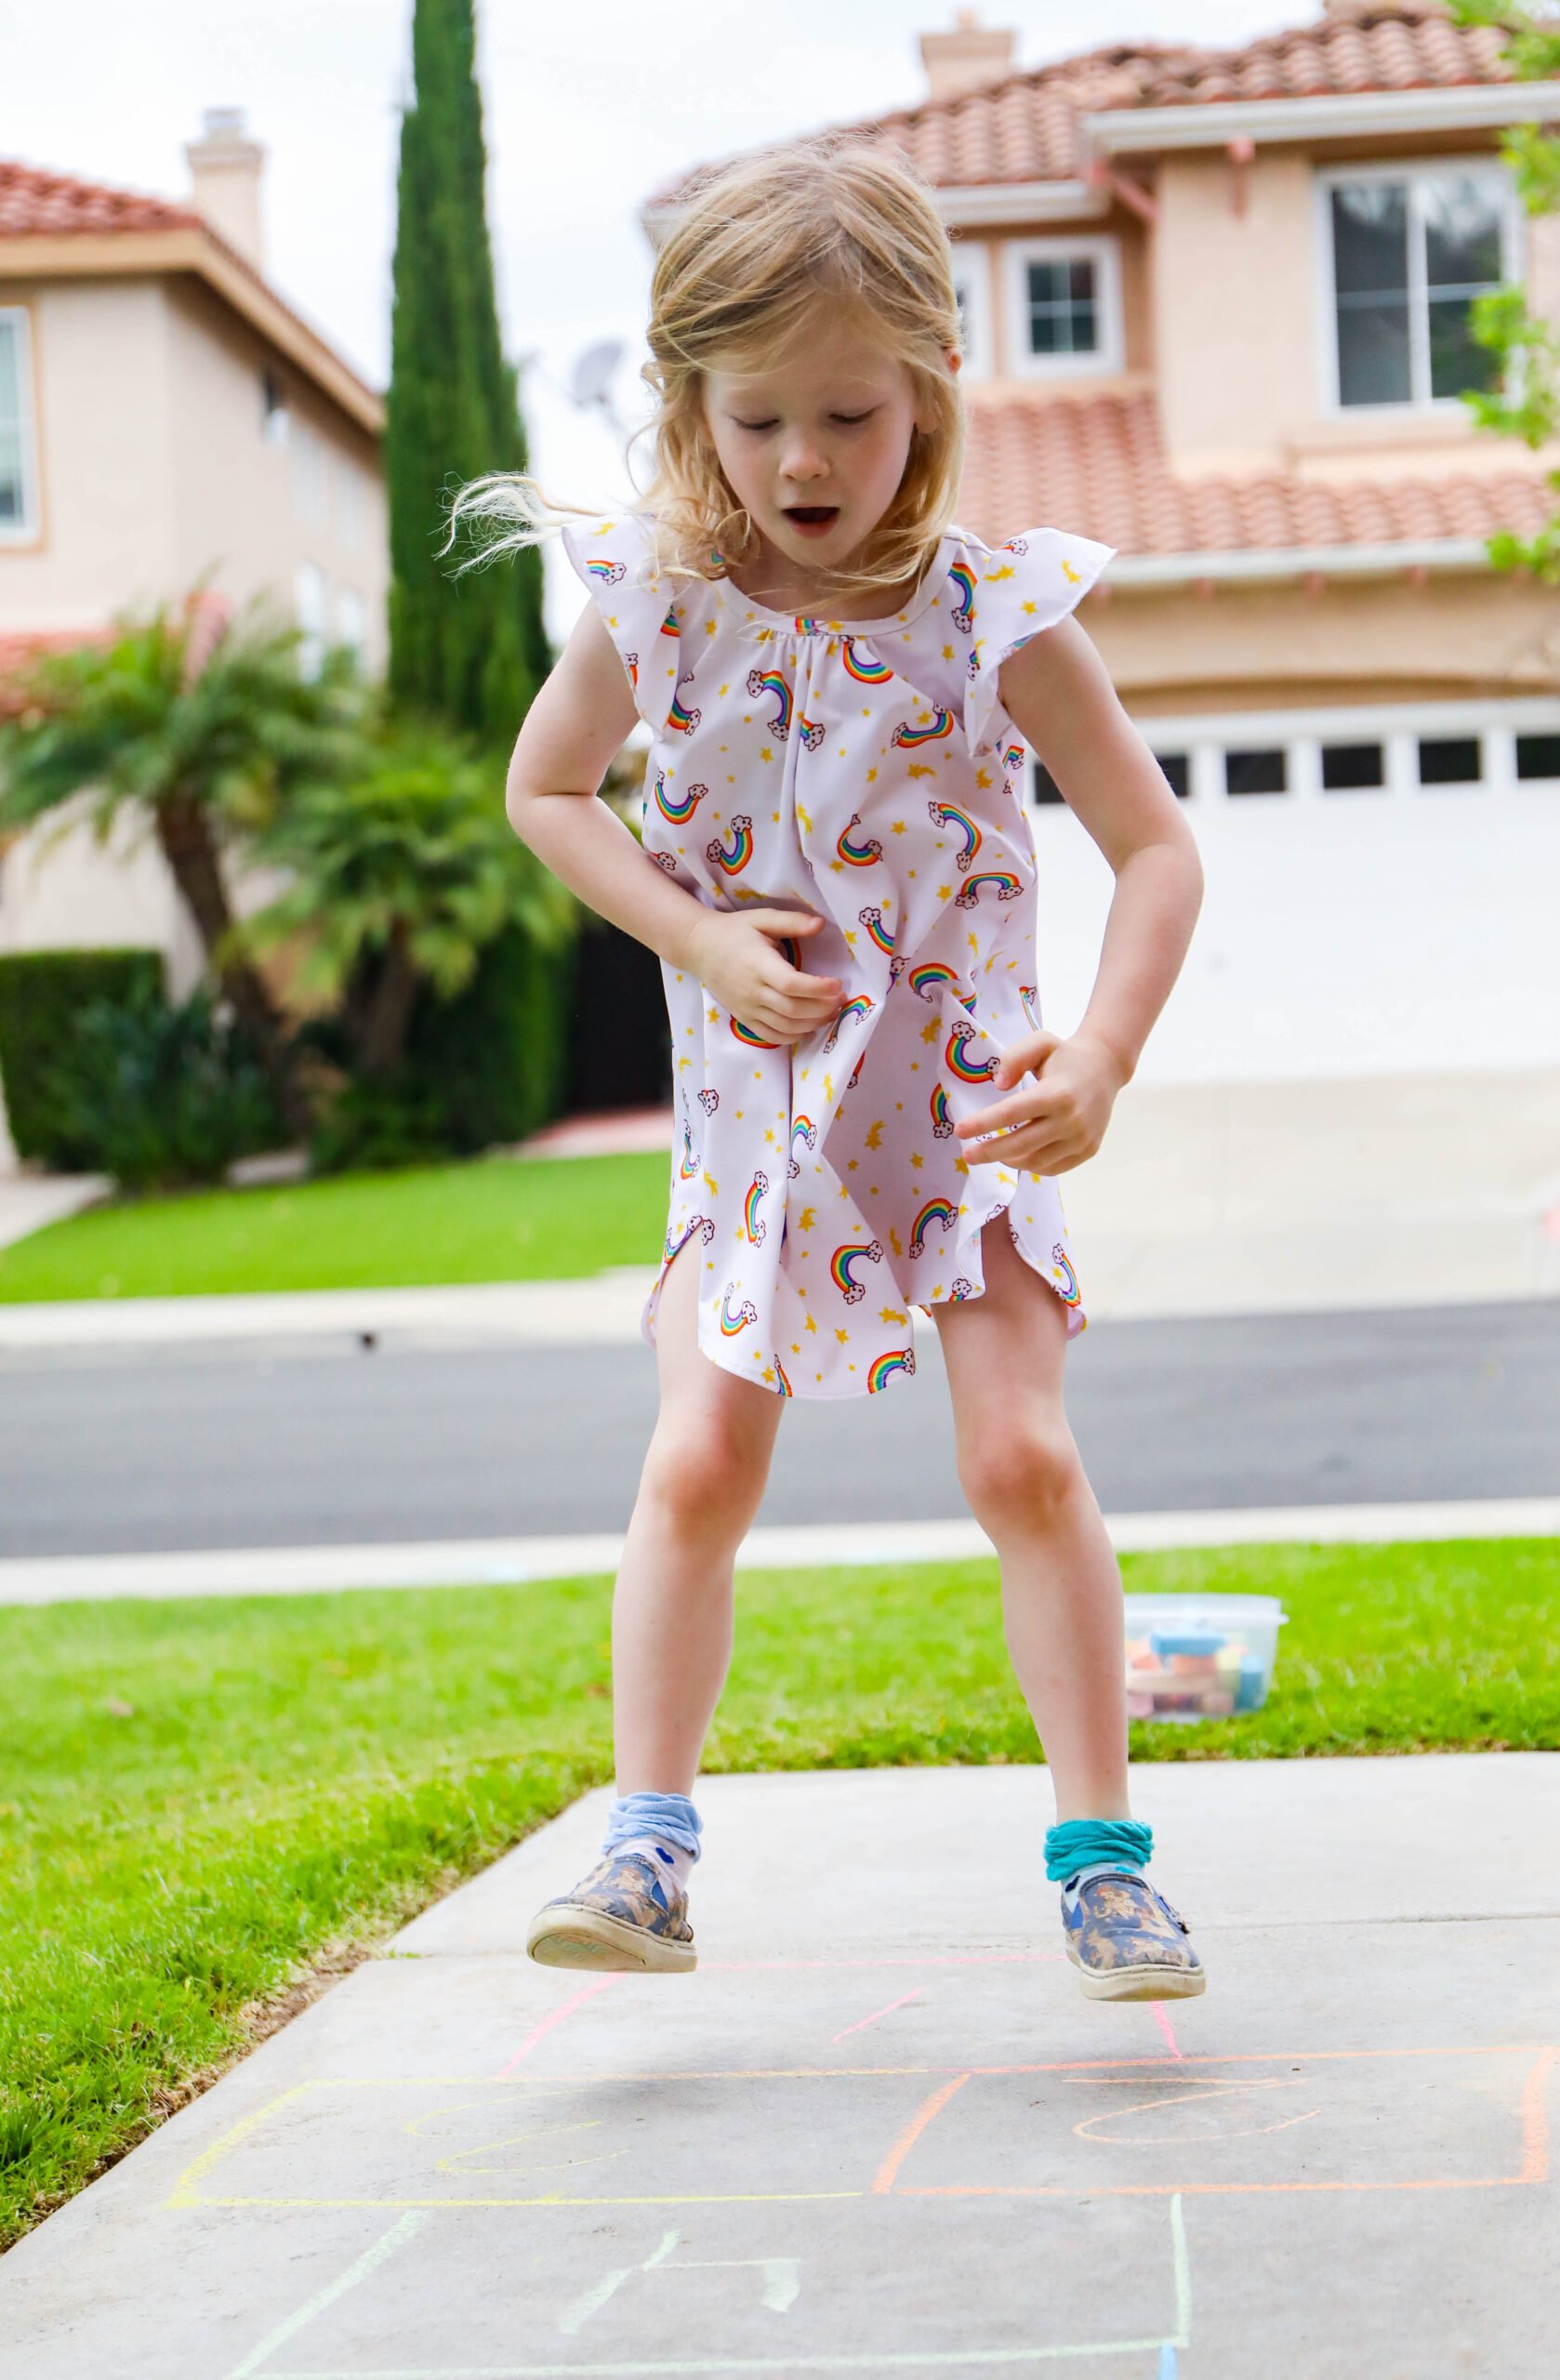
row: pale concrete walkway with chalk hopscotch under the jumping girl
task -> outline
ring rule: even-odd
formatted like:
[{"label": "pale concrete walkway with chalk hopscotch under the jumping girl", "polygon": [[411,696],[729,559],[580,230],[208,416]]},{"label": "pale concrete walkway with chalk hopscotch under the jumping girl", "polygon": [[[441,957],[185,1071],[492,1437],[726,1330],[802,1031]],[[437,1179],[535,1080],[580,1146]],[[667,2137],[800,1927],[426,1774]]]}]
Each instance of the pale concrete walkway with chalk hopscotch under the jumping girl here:
[{"label": "pale concrete walkway with chalk hopscotch under the jumping girl", "polygon": [[0,2263],[26,2380],[1548,2370],[1560,1756],[1155,1764],[1210,1985],[1091,2004],[1041,1768],[705,1778],[679,1978],[524,1959],[607,1792]]}]

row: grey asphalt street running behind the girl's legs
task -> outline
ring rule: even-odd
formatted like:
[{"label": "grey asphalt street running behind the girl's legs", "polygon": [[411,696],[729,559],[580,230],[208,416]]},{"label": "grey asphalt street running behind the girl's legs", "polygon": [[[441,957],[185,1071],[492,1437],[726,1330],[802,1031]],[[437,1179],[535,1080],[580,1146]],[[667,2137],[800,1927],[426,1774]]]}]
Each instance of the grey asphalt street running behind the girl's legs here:
[{"label": "grey asphalt street running behind the girl's legs", "polygon": [[[760,1521],[965,1514],[936,1340],[784,1416]],[[1100,1321],[1067,1411],[1107,1514],[1560,1490],[1553,1299]],[[0,1359],[0,1557],[617,1530],[645,1347],[357,1340]]]}]

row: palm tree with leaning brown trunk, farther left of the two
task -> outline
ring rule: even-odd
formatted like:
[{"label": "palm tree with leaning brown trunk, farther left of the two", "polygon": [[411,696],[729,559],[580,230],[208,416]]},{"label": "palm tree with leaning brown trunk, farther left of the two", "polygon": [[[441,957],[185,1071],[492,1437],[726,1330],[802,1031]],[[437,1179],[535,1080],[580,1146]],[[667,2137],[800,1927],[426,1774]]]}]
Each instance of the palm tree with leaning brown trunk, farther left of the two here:
[{"label": "palm tree with leaning brown trunk, farther left of the two", "polygon": [[[119,616],[107,640],[38,654],[0,721],[0,828],[24,828],[88,797],[100,843],[121,812],[143,816],[276,1090],[307,1128],[288,1033],[264,976],[236,938],[224,854],[305,788],[357,764],[364,690],[345,652],[310,676],[302,638],[260,605],[229,621],[195,588],[150,616]],[[76,814],[62,819],[62,828]]]}]

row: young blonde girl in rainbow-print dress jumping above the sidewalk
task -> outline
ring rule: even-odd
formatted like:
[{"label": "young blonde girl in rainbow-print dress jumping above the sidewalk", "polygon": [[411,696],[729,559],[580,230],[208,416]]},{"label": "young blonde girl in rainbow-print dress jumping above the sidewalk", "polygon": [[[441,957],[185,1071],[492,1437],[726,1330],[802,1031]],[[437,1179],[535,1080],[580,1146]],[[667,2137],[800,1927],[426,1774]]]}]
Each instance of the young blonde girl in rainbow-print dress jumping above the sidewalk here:
[{"label": "young blonde girl in rainbow-print dress jumping above the sidewalk", "polygon": [[[660,1364],[612,1604],[617,1799],[548,1966],[695,1964],[691,1792],[734,1557],[788,1397],[941,1335],[960,1483],[1055,1785],[1046,1875],[1093,1999],[1200,1992],[1129,1814],[1122,1578],[1062,1414],[1084,1328],[1055,1176],[1100,1147],[1203,897],[1193,835],[1069,616],[1110,547],[950,526],[960,317],[931,193],[815,140],[712,174],[653,286],[655,478],[564,528],[591,602],[514,745],[514,831],[662,959],[676,1145]],[[460,516],[533,543],[533,483]],[[650,728],[643,847],[593,793]],[[1077,1033],[1041,1023],[1024,747],[1117,885]]]}]

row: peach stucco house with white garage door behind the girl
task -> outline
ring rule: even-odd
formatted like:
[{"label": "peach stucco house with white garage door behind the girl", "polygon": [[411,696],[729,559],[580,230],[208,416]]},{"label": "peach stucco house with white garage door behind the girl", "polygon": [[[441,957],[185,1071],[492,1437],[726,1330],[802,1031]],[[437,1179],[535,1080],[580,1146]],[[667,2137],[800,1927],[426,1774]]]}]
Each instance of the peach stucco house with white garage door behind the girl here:
[{"label": "peach stucco house with white garage door behind the girl", "polygon": [[[1460,402],[1477,290],[1560,312],[1560,219],[1498,157],[1560,88],[1439,0],[1327,0],[1236,50],[1012,50],[965,12],[922,40],[926,100],[855,131],[955,240],[965,526],[1117,547],[1084,624],[1208,871],[1143,1073],[1560,1064],[1560,597],[1484,543],[1548,519],[1558,457]],[[1043,769],[1034,802],[1069,1031],[1110,871]]]}]

